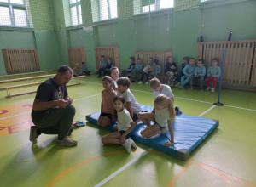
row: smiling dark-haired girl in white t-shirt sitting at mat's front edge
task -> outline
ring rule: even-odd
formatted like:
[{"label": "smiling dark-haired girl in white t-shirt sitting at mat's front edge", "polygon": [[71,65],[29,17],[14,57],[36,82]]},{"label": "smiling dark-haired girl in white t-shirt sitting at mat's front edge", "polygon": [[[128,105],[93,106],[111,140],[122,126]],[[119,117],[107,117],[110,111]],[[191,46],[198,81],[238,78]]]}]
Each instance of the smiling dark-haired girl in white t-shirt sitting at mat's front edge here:
[{"label": "smiling dark-haired girl in white t-shirt sitting at mat's front edge", "polygon": [[131,146],[137,148],[134,141],[130,138],[131,131],[135,127],[129,111],[125,109],[125,99],[122,95],[116,95],[113,99],[114,117],[118,120],[118,132],[108,133],[102,137],[103,144],[121,144],[131,152]]}]

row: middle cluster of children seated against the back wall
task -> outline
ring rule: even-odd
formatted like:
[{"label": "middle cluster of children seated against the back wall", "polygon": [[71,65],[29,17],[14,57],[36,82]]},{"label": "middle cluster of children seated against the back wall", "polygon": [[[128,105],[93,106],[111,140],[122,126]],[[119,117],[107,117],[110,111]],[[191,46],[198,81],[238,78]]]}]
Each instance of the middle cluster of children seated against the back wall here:
[{"label": "middle cluster of children seated against the back wall", "polygon": [[157,59],[150,57],[148,59],[148,64],[143,67],[142,59],[137,59],[137,64],[135,64],[135,58],[130,57],[130,66],[123,70],[120,74],[120,77],[125,77],[126,74],[131,74],[128,77],[131,77],[131,82],[135,82],[137,74],[142,74],[142,77],[138,84],[143,84],[143,79],[146,76],[145,84],[148,84],[148,81],[156,76],[159,76],[161,73],[161,66]]}]

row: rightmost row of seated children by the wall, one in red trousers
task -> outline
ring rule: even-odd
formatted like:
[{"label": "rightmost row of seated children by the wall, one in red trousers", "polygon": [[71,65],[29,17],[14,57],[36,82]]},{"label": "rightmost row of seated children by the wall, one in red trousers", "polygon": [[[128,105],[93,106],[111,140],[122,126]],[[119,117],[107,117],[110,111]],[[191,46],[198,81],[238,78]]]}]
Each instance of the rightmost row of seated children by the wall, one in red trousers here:
[{"label": "rightmost row of seated children by the wall, one in red trousers", "polygon": [[[173,86],[177,82],[175,87],[184,89],[185,84],[189,82],[189,89],[193,89],[195,80],[200,80],[201,90],[203,90],[203,83],[206,82],[207,90],[211,89],[211,92],[214,92],[216,82],[221,75],[217,58],[212,59],[212,65],[208,68],[207,73],[203,59],[198,59],[197,65],[195,65],[194,58],[184,57],[182,71],[179,73],[176,71],[176,64],[172,62],[172,58],[168,60],[168,63],[170,68],[166,71],[166,77],[168,77],[169,85]],[[210,82],[212,82],[212,88]]]}]

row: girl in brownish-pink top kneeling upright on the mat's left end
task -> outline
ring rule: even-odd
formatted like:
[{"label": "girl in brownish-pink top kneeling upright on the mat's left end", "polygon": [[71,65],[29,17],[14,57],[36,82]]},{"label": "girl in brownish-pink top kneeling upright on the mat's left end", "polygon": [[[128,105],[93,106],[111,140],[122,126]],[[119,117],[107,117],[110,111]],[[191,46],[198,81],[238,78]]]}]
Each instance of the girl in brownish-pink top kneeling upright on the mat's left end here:
[{"label": "girl in brownish-pink top kneeling upright on the mat's left end", "polygon": [[113,98],[116,95],[116,92],[111,77],[104,76],[102,78],[102,85],[105,89],[102,90],[101,116],[99,116],[97,124],[98,126],[107,127],[113,122]]}]

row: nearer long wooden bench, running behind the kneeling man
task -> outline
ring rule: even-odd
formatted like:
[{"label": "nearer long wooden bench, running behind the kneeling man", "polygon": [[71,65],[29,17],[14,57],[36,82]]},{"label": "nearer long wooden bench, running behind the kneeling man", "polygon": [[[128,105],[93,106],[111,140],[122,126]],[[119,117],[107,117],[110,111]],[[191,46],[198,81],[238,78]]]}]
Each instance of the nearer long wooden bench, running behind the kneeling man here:
[{"label": "nearer long wooden bench, running behind the kneeling man", "polygon": [[[78,77],[73,77],[72,79],[76,79],[76,82],[73,83],[73,84],[68,84],[67,87],[70,87],[70,86],[75,86],[75,85],[79,85],[81,84],[80,82],[80,78],[81,77],[86,77],[86,76],[78,76]],[[9,86],[9,87],[4,87],[4,88],[0,88],[0,90],[6,90],[6,98],[11,98],[11,97],[14,97],[14,96],[19,96],[19,95],[24,95],[24,94],[32,94],[32,93],[36,93],[37,91],[31,91],[31,92],[25,92],[25,93],[20,93],[20,94],[11,94],[10,93],[10,90],[12,88],[21,88],[21,87],[26,87],[26,86],[32,86],[32,85],[37,85],[37,84],[40,84],[42,82],[32,82],[32,83],[27,83],[27,84],[20,84],[20,85],[15,85],[15,86]]]}]

